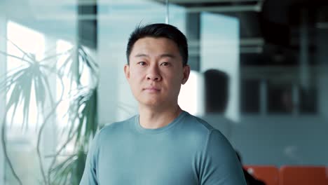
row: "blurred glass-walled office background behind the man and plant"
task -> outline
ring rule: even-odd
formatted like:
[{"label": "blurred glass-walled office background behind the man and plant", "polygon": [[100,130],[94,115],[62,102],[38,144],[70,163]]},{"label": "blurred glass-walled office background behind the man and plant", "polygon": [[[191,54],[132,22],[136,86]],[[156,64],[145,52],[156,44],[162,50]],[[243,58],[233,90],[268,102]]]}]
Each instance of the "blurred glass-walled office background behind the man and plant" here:
[{"label": "blurred glass-walled office background behind the man and plant", "polygon": [[[20,60],[50,58],[59,70],[65,52],[83,46],[97,71],[90,77],[90,66],[80,66],[78,84],[97,88],[101,128],[137,114],[123,74],[125,47],[137,25],[154,22],[175,25],[189,40],[192,71],[179,96],[182,109],[210,115],[244,165],[328,167],[327,1],[0,0],[0,125],[6,130],[0,133],[0,184],[51,184],[49,167],[57,151],[62,149],[58,161],[76,154],[74,142],[63,139],[69,137],[70,100],[62,95],[69,97],[71,91],[64,89],[77,83],[70,76],[48,75],[52,93],[42,94],[36,82],[26,81],[32,84],[29,104],[7,110],[15,89],[3,89],[1,82],[20,69]],[[72,61],[78,60],[74,56]],[[205,111],[207,69],[229,76],[224,114]],[[46,118],[47,107],[57,100],[53,116]],[[221,117],[228,122],[220,124]],[[328,183],[328,170],[326,175]]]}]

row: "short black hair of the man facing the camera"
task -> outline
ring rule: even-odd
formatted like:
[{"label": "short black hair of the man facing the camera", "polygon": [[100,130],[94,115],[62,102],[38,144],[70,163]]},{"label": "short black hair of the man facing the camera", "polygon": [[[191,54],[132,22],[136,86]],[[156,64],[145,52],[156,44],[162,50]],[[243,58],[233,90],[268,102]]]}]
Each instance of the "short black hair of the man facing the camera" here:
[{"label": "short black hair of the man facing the camera", "polygon": [[130,64],[129,57],[132,51],[135,42],[144,37],[153,37],[153,38],[166,38],[174,41],[179,48],[179,53],[182,56],[182,64],[185,66],[188,62],[188,43],[186,36],[182,32],[172,25],[167,25],[163,23],[156,23],[151,25],[139,25],[133,32],[130,34],[128,40],[128,46],[126,48],[126,57],[128,64]]}]

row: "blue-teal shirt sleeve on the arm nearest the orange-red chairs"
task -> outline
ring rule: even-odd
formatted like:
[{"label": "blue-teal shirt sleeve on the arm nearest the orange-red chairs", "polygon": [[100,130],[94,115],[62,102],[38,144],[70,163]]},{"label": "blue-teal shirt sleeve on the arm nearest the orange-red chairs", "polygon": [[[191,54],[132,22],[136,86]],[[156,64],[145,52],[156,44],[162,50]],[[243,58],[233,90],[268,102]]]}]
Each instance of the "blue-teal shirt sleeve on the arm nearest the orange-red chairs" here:
[{"label": "blue-teal shirt sleeve on the arm nearest the orange-red chairs", "polygon": [[201,185],[246,185],[233,147],[219,130],[211,130],[200,163]]}]

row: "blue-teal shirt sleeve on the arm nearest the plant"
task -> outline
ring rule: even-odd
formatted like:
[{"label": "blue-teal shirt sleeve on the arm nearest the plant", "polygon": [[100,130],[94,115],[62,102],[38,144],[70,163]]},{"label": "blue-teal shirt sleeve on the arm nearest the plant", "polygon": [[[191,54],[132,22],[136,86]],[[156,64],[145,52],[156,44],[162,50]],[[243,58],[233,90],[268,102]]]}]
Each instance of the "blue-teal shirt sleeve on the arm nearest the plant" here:
[{"label": "blue-teal shirt sleeve on the arm nearest the plant", "polygon": [[98,185],[97,181],[97,156],[98,156],[98,144],[99,134],[95,135],[93,142],[88,151],[86,158],[86,166],[84,168],[83,176],[80,181],[80,185]]}]

